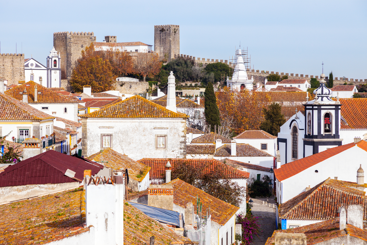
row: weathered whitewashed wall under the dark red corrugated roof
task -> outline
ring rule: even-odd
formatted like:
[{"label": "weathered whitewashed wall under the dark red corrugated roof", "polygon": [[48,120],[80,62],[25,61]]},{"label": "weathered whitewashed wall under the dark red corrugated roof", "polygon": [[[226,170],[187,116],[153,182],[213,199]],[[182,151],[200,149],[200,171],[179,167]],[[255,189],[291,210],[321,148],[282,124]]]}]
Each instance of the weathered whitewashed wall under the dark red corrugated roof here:
[{"label": "weathered whitewashed wall under the dark red corrugated roof", "polygon": [[61,184],[36,184],[0,187],[0,203],[13,202],[21,199],[37,197],[69,188],[77,188],[82,185],[79,182]]}]

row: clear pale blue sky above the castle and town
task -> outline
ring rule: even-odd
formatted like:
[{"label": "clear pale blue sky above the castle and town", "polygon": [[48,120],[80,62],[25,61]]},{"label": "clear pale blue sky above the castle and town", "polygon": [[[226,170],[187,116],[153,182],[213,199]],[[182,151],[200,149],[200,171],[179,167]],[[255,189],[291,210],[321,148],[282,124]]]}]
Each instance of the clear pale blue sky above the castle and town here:
[{"label": "clear pale blue sky above the castle and town", "polygon": [[[228,60],[248,47],[254,69],[367,79],[367,1],[1,1],[1,53],[46,63],[54,32],[154,44],[180,26],[180,53]],[[22,46],[22,47],[21,47]]]}]

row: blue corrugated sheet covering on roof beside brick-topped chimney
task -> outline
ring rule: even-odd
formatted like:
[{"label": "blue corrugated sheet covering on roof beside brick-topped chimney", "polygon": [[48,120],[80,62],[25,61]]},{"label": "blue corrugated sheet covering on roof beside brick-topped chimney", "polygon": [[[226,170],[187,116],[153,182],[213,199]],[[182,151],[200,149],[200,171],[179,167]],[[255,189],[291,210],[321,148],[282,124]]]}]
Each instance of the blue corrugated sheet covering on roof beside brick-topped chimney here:
[{"label": "blue corrugated sheet covering on roof beside brick-topped chimney", "polygon": [[128,203],[134,206],[135,208],[139,209],[141,212],[145,213],[152,219],[155,219],[161,223],[171,224],[173,226],[180,227],[180,216],[179,213],[176,211],[148,206],[136,202],[128,202]]}]

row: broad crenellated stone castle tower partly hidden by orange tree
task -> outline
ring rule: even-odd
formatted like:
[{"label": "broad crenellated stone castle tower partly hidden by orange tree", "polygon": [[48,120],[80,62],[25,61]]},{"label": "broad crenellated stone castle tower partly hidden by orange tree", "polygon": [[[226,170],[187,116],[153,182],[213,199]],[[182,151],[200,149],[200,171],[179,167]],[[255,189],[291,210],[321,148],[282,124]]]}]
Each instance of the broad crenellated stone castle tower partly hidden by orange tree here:
[{"label": "broad crenellated stone castle tower partly hidden by orange tree", "polygon": [[93,32],[55,32],[54,47],[61,57],[61,79],[70,80],[81,51],[95,42]]}]

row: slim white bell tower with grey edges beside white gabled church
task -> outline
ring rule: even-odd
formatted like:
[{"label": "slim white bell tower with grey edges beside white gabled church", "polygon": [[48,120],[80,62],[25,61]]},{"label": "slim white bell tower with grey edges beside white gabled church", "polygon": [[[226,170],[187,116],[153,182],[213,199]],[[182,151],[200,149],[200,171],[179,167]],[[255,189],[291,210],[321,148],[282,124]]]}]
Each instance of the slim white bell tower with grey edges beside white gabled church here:
[{"label": "slim white bell tower with grey edges beside white gabled church", "polygon": [[60,55],[57,54],[55,47],[52,47],[50,55],[47,57],[47,87],[61,87],[61,66]]}]

